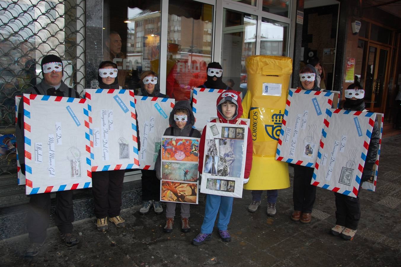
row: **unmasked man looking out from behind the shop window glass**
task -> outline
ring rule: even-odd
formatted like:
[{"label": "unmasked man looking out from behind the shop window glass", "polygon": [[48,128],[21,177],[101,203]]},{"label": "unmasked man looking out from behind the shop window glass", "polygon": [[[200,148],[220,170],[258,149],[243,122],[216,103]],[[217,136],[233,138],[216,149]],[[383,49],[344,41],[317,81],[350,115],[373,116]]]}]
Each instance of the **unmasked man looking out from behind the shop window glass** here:
[{"label": "unmasked man looking out from behind the shop window glass", "polygon": [[113,61],[117,64],[118,85],[124,89],[126,88],[125,81],[128,71],[124,69],[123,60],[126,59],[126,56],[121,52],[121,47],[122,41],[120,35],[115,31],[111,31],[103,47],[103,61]]}]

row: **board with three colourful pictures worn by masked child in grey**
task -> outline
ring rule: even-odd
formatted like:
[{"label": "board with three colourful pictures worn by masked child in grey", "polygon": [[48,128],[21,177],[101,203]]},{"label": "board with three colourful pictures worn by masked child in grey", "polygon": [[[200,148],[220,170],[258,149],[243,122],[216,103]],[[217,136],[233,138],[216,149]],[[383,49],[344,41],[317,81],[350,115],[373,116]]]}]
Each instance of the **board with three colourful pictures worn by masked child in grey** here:
[{"label": "board with three colourful pictures worn by masked child in grey", "polygon": [[160,201],[198,204],[199,138],[163,136]]}]

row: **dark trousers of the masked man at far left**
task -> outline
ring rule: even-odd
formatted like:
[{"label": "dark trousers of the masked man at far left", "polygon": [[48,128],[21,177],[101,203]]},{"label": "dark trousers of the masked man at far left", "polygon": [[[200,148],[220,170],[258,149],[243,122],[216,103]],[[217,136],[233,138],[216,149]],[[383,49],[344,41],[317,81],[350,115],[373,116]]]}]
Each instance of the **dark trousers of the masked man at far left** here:
[{"label": "dark trousers of the masked man at far left", "polygon": [[[29,240],[42,243],[46,239],[46,231],[50,222],[51,198],[50,193],[30,196],[27,218]],[[74,210],[72,190],[56,192],[56,211],[54,220],[62,234],[73,230]]]}]

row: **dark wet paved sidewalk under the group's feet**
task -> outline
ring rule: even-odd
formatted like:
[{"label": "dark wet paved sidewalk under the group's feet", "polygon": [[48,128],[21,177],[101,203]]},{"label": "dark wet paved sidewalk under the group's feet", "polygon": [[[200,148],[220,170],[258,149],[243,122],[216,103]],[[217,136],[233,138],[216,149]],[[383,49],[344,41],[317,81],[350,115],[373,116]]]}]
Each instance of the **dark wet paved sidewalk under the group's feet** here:
[{"label": "dark wet paved sidewalk under the group's feet", "polygon": [[[247,211],[251,192],[235,199],[229,224],[230,243],[217,233],[195,247],[190,244],[203,220],[204,202],[191,206],[192,231],[180,232],[179,205],[172,234],[163,232],[164,214],[141,216],[139,207],[123,210],[126,228],[109,225],[98,232],[95,219],[74,223],[79,245],[67,248],[48,230],[41,252],[24,259],[27,234],[0,241],[1,266],[400,266],[401,262],[401,135],[383,139],[377,192],[362,190],[362,218],[354,240],[329,230],[335,223],[334,194],[318,188],[310,224],[290,220],[292,188],[279,191],[277,214],[266,215],[266,200],[254,214]],[[292,168],[290,167],[290,171]],[[266,173],[273,173],[267,170]],[[291,177],[292,179],[292,177]],[[264,195],[265,197],[265,195]],[[24,223],[24,222],[16,222]]]}]

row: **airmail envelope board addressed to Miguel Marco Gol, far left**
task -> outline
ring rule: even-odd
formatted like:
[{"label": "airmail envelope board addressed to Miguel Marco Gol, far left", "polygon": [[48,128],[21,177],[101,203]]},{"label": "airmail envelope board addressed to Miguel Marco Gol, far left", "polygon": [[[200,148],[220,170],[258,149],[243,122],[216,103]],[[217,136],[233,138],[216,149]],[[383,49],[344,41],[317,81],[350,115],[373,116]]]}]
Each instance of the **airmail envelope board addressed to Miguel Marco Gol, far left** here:
[{"label": "airmail envelope board addressed to Miguel Marco Gol, far left", "polygon": [[24,94],[23,101],[26,194],[91,187],[87,100]]}]

